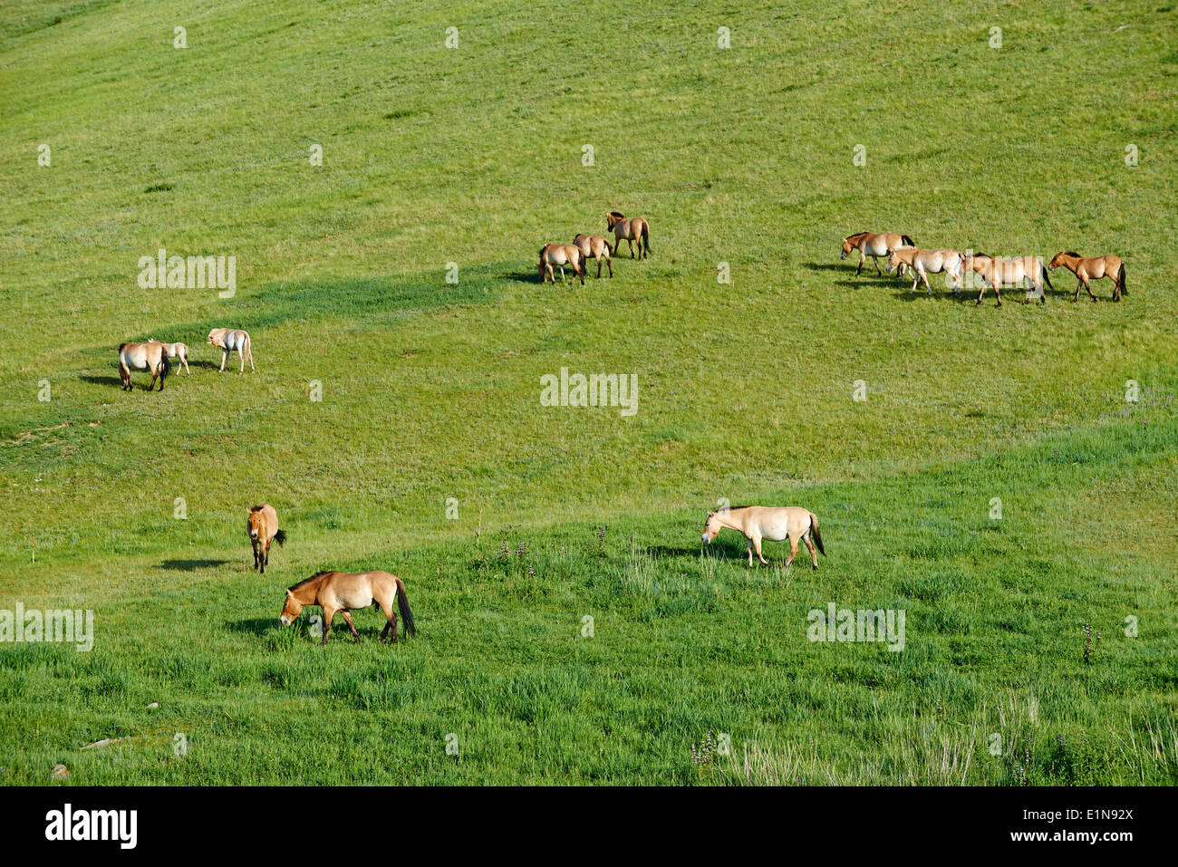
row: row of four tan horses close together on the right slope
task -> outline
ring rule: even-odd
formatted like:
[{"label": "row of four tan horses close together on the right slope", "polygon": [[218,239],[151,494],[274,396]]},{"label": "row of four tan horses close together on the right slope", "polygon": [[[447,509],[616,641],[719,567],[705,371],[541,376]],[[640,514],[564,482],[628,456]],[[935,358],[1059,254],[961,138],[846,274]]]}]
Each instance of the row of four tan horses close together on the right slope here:
[{"label": "row of four tan horses close together on the right slope", "polygon": [[853,251],[859,251],[859,269],[856,274],[863,270],[867,257],[872,257],[875,271],[880,271],[879,257],[886,256],[888,273],[896,271],[904,277],[905,270],[912,272],[912,289],[916,291],[920,280],[925,282],[925,290],[933,293],[928,285],[928,274],[946,273],[952,278],[951,286],[957,294],[958,289],[965,285],[965,274],[977,272],[981,277],[981,292],[978,294],[978,304],[986,294],[987,289],[994,290],[998,306],[1002,306],[1002,296],[999,293],[1000,286],[1015,286],[1019,283],[1026,285],[1026,302],[1038,298],[1040,304],[1046,304],[1044,297],[1044,284],[1048,289],[1051,285],[1048,271],[1057,267],[1066,267],[1076,274],[1076,296],[1073,302],[1080,299],[1080,289],[1087,290],[1092,300],[1097,297],[1092,293],[1092,280],[1107,277],[1112,280],[1112,299],[1119,302],[1125,294],[1125,263],[1119,256],[1092,256],[1084,257],[1074,252],[1059,252],[1052,257],[1046,266],[1043,259],[1035,256],[1017,256],[1013,258],[995,258],[986,253],[962,253],[958,250],[941,247],[938,250],[925,250],[916,246],[916,243],[907,234],[896,232],[858,232],[842,239],[842,256],[846,259]]}]

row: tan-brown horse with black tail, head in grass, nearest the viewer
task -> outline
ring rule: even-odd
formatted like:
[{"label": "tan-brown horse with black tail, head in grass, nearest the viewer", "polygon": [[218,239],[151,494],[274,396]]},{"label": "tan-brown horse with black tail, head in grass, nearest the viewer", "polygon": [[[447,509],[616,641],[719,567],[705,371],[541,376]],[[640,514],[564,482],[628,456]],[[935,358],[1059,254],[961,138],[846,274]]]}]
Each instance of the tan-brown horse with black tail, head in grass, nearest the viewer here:
[{"label": "tan-brown horse with black tail, head in grass, nearest the viewer", "polygon": [[380,630],[380,641],[384,641],[384,636],[391,629],[392,641],[390,643],[396,644],[397,615],[392,611],[393,598],[397,600],[397,607],[401,609],[401,618],[405,621],[405,631],[409,635],[416,635],[413,613],[409,610],[409,598],[405,596],[405,582],[396,575],[382,571],[317,573],[286,590],[286,603],[283,605],[283,613],[278,620],[282,621],[283,626],[290,626],[304,605],[319,605],[323,609],[323,641],[319,642],[322,647],[327,643],[331,618],[336,616],[336,611],[339,611],[358,644],[360,636],[352,624],[351,611],[372,605],[384,611],[386,621],[384,629]]}]

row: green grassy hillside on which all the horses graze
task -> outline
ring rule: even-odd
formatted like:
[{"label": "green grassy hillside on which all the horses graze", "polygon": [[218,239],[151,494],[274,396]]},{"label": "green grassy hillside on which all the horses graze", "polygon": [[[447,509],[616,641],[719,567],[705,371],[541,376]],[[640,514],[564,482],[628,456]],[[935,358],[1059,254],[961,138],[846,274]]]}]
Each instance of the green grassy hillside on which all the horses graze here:
[{"label": "green grassy hillside on which all the horses graze", "polygon": [[[1172,785],[1178,13],[561,8],[0,11],[0,609],[98,631],[0,644],[0,783]],[[540,285],[611,209],[651,258]],[[1129,292],[908,294],[839,262],[865,229],[1117,252]],[[236,297],[138,289],[161,246]],[[123,393],[148,336],[193,376]],[[562,366],[637,412],[541,406]],[[805,504],[829,557],[701,555],[720,498]],[[283,629],[320,568],[402,576],[418,636]],[[830,602],[905,609],[905,650],[810,643]]]}]

